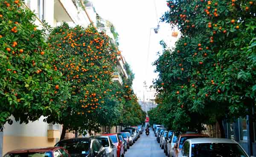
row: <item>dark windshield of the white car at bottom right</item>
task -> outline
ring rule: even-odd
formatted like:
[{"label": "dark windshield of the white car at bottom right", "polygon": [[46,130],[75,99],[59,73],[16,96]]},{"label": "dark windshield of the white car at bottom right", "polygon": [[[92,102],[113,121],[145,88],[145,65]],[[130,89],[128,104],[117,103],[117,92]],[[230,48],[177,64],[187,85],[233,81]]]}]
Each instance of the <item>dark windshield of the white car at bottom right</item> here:
[{"label": "dark windshield of the white car at bottom right", "polygon": [[236,143],[199,143],[191,147],[191,157],[248,157]]}]

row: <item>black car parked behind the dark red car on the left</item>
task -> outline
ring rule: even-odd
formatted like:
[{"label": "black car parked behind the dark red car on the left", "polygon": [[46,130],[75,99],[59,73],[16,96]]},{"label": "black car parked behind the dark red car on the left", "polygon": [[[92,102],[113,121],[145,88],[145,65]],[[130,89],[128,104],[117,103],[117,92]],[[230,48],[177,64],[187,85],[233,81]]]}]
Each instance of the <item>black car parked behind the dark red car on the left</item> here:
[{"label": "black car parked behind the dark red car on the left", "polygon": [[71,157],[107,157],[105,148],[94,137],[61,140],[55,146],[65,148]]}]

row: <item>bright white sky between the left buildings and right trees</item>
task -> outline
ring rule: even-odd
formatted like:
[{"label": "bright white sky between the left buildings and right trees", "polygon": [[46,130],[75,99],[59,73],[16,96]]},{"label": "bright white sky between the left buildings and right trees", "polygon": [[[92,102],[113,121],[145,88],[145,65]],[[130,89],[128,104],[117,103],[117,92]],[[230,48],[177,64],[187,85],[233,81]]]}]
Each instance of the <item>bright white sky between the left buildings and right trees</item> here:
[{"label": "bright white sky between the left buildings and right trees", "polygon": [[[109,20],[119,33],[119,50],[135,74],[133,89],[140,100],[143,99],[143,82],[147,86],[157,78],[152,63],[157,52],[162,52],[161,40],[172,42],[171,28],[167,23],[159,23],[160,17],[168,11],[166,0],[91,0],[96,12]],[[151,32],[151,35],[150,35]],[[149,47],[149,51],[148,51]]]}]

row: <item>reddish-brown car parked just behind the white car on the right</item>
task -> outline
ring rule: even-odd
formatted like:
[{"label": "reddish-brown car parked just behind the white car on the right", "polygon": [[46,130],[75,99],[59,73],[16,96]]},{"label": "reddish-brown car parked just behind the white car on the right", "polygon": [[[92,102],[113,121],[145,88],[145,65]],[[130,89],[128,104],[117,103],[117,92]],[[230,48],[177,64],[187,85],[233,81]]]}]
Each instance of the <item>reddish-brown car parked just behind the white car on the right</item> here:
[{"label": "reddish-brown car parked just behind the white car on the right", "polygon": [[177,157],[177,154],[181,151],[182,146],[187,139],[200,138],[200,137],[209,137],[209,135],[207,135],[207,134],[180,134],[177,142],[174,145],[173,156]]}]

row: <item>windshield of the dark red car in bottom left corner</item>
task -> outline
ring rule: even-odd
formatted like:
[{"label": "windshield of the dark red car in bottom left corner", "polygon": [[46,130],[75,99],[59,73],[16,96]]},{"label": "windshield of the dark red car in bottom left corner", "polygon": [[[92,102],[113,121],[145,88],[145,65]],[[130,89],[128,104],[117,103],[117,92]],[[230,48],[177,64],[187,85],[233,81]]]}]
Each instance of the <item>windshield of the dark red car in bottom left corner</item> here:
[{"label": "windshield of the dark red car in bottom left corner", "polygon": [[52,157],[52,152],[43,151],[35,153],[10,153],[6,154],[4,157]]}]

